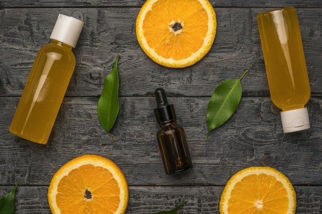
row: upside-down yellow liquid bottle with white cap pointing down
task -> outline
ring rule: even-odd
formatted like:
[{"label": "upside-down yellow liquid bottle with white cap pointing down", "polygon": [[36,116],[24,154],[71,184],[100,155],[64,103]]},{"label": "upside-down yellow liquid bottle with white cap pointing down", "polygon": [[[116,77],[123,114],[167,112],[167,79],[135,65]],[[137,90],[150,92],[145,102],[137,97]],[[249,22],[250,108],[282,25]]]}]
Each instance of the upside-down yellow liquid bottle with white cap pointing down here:
[{"label": "upside-down yellow liquid bottle with white cap pointing down", "polygon": [[311,90],[295,8],[258,14],[259,34],[273,103],[285,133],[310,128],[305,105]]}]

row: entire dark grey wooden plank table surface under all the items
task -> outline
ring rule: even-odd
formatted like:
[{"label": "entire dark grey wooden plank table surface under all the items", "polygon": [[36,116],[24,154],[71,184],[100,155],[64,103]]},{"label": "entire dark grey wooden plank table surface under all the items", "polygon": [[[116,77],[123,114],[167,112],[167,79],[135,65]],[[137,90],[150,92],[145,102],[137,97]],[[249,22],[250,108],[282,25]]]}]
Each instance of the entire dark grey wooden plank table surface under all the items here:
[{"label": "entire dark grey wooden plank table surface under all the items", "polygon": [[[135,20],[143,0],[0,0],[0,196],[19,182],[16,213],[51,213],[47,189],[53,174],[83,154],[113,160],[130,185],[127,213],[150,214],[189,203],[180,213],[219,213],[228,179],[250,166],[269,165],[287,176],[297,193],[296,213],[322,213],[322,1],[211,0],[217,34],[211,51],[194,66],[169,69],[139,47]],[[272,104],[256,15],[297,8],[311,83],[311,129],[284,134]],[[35,55],[48,42],[59,13],[83,13],[76,69],[46,145],[15,137],[9,126]],[[97,118],[104,77],[119,54],[120,113],[112,130]],[[236,113],[205,141],[206,107],[215,87],[242,80]],[[185,128],[194,168],[168,176],[156,141],[153,91],[164,87]]]}]

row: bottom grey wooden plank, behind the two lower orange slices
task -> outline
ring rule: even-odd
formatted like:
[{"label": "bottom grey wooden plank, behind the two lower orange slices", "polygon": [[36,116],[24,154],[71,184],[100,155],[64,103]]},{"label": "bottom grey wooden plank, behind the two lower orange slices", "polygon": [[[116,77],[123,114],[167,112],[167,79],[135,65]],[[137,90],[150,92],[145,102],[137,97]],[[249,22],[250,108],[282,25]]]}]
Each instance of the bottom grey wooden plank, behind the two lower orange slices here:
[{"label": "bottom grey wooden plank, behind the two lower orange slices", "polygon": [[[0,195],[11,190],[11,186],[0,186]],[[172,209],[180,202],[188,203],[178,213],[218,213],[223,187],[130,187],[130,202],[127,213],[149,214],[162,209]],[[20,186],[16,194],[16,214],[50,213],[47,202],[48,188],[45,186]],[[295,186],[297,214],[321,213],[322,187]]]}]

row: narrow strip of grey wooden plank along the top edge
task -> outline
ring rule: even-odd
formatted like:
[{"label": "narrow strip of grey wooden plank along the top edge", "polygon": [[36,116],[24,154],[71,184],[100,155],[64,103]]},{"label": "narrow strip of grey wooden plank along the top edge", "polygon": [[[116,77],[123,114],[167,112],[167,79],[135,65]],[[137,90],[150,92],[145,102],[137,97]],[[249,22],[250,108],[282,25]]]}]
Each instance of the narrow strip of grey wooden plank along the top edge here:
[{"label": "narrow strip of grey wooden plank along the top edge", "polygon": [[[145,0],[2,0],[0,7],[141,7]],[[303,7],[321,8],[319,0],[209,0],[213,7]]]}]

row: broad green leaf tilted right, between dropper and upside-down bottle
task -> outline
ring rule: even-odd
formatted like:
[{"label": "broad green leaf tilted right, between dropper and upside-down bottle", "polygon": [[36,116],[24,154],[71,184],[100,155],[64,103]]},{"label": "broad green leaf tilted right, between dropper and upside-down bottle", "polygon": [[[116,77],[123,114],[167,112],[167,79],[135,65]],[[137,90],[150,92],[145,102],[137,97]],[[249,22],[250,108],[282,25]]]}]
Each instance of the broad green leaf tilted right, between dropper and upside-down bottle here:
[{"label": "broad green leaf tilted right, between dropper and upside-down bottle", "polygon": [[226,80],[214,89],[207,107],[208,133],[206,140],[208,140],[210,131],[223,125],[236,111],[242,95],[240,81],[247,72],[248,70],[240,79]]}]

